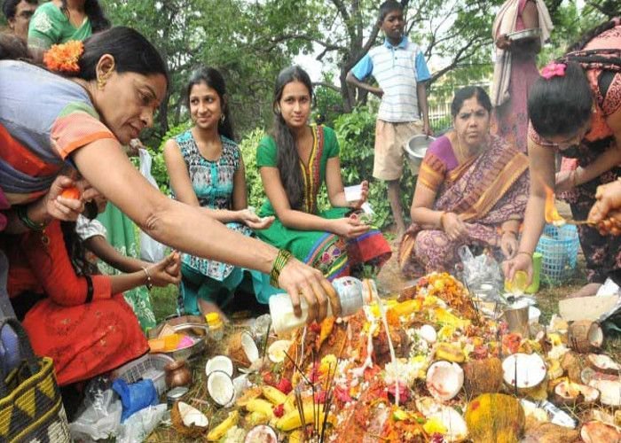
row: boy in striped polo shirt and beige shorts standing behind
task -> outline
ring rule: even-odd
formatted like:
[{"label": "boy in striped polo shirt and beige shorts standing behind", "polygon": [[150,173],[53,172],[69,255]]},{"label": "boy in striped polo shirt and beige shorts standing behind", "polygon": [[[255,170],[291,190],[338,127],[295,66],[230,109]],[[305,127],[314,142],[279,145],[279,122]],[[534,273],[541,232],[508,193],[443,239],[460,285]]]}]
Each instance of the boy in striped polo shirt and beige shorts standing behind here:
[{"label": "boy in striped polo shirt and beige shorts standing behind", "polygon": [[[425,90],[425,82],[431,76],[420,48],[404,35],[405,18],[400,3],[389,0],[381,4],[379,26],[386,36],[384,43],[358,61],[347,74],[347,81],[381,98],[375,124],[373,177],[388,182],[390,207],[397,235],[401,237],[405,232],[399,199],[403,147],[416,134],[431,135]],[[363,82],[369,75],[373,75],[379,88]],[[417,172],[413,168],[413,173]]]}]

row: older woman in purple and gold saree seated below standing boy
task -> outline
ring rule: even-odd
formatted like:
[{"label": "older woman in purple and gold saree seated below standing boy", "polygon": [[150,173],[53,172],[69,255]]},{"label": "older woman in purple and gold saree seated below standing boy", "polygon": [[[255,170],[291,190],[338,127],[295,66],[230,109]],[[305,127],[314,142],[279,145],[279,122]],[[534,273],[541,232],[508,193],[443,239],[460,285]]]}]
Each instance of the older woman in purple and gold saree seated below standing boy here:
[{"label": "older woman in purple and gold saree seated below standing boy", "polygon": [[416,183],[412,225],[399,248],[406,276],[451,270],[461,245],[517,251],[528,198],[528,158],[491,136],[491,103],[479,87],[456,92],[452,131],[428,148]]}]

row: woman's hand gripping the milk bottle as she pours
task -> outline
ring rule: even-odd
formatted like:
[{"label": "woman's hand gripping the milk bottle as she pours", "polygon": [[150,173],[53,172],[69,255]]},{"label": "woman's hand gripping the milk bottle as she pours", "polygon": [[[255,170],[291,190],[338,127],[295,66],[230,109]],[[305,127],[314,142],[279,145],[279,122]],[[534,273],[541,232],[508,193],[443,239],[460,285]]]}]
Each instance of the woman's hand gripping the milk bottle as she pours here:
[{"label": "woman's hand gripping the milk bottle as she pours", "polygon": [[300,295],[306,299],[309,306],[307,323],[318,322],[326,318],[327,304],[332,304],[332,314],[341,314],[341,305],[336,291],[318,269],[311,268],[301,261],[291,258],[280,271],[279,287],[287,291],[294,305],[295,315],[302,315]]}]

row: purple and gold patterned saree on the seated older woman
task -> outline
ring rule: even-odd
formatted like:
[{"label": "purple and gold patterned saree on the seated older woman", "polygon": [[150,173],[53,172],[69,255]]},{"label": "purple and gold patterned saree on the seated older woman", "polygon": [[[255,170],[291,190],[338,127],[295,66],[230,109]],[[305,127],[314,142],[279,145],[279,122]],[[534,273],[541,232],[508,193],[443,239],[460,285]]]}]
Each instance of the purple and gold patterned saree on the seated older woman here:
[{"label": "purple and gold patterned saree on the seated older woman", "polygon": [[528,158],[496,136],[488,148],[447,173],[433,209],[458,214],[468,237],[449,240],[443,230],[413,223],[399,246],[405,276],[452,271],[461,245],[491,247],[499,255],[499,227],[522,220],[528,200]]}]

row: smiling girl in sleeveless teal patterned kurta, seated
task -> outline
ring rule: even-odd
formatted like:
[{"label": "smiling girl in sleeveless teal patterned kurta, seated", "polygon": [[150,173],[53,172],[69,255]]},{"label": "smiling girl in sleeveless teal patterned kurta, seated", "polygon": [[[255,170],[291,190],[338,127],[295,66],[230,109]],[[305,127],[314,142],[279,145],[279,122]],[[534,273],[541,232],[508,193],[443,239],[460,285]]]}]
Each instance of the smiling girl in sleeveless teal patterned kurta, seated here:
[{"label": "smiling girl in sleeveless teal patterned kurta, seated", "polygon": [[[269,226],[273,217],[260,219],[247,208],[244,165],[232,141],[224,79],[215,69],[200,68],[186,91],[194,126],[164,148],[173,195],[185,204],[205,208],[227,228],[254,236],[253,229]],[[264,274],[190,254],[183,255],[181,272],[187,314],[224,315],[222,309],[231,307],[238,288],[254,292],[263,303],[277,291]]]}]

